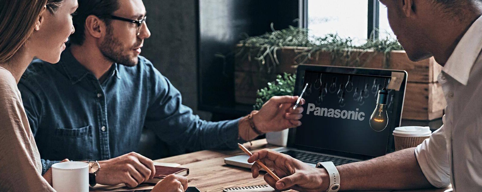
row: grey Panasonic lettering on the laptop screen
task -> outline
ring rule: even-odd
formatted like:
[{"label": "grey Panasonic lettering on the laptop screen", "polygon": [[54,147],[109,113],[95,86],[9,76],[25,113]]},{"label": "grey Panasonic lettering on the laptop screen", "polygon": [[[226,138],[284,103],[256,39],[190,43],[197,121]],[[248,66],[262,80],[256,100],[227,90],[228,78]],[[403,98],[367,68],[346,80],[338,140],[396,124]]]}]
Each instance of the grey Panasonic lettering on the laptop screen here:
[{"label": "grey Panasonic lettering on the laptop screen", "polygon": [[310,112],[313,112],[313,115],[318,115],[318,116],[351,119],[351,120],[359,120],[359,121],[363,121],[363,119],[365,119],[365,113],[358,112],[358,108],[356,109],[356,111],[347,111],[347,110],[339,110],[339,109],[320,108],[315,106],[313,103],[308,103],[308,110],[306,111],[306,115],[309,115]]}]

